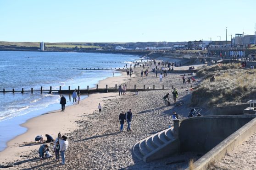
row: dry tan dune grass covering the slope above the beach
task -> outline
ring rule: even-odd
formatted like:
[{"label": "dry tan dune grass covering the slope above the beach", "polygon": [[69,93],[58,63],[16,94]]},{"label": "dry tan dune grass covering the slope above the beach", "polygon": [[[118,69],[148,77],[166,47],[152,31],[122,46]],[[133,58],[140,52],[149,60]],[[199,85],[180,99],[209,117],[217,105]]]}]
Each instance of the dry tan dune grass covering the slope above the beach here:
[{"label": "dry tan dune grass covering the slope above the beach", "polygon": [[[215,75],[215,82],[210,82]],[[204,80],[192,93],[191,106],[235,105],[256,99],[256,70],[241,69],[240,64],[204,67],[197,76]]]}]

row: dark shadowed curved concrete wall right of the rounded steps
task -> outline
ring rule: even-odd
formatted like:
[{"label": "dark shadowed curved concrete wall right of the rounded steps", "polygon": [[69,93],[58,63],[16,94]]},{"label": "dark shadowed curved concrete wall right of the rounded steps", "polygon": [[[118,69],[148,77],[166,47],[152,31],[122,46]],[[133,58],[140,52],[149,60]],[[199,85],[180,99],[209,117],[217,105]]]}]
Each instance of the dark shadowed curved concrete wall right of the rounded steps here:
[{"label": "dark shadowed curved concrete wall right of the rounded steps", "polygon": [[180,140],[181,152],[206,153],[255,117],[256,115],[203,116],[180,119],[177,120],[178,123],[175,120],[174,135]]}]

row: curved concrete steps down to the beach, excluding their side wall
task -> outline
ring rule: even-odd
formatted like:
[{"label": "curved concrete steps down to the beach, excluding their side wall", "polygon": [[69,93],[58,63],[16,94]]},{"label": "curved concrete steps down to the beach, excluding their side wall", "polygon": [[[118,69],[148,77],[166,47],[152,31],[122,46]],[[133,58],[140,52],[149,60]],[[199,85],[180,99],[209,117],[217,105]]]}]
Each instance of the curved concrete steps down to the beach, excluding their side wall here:
[{"label": "curved concrete steps down to the beach, excluding their side wall", "polygon": [[151,135],[150,137],[137,142],[133,147],[134,155],[138,159],[145,161],[146,157],[152,156],[152,154],[155,154],[158,152],[158,150],[163,149],[169,144],[172,144],[172,142],[175,141],[172,130],[173,127],[167,128],[159,133]]}]

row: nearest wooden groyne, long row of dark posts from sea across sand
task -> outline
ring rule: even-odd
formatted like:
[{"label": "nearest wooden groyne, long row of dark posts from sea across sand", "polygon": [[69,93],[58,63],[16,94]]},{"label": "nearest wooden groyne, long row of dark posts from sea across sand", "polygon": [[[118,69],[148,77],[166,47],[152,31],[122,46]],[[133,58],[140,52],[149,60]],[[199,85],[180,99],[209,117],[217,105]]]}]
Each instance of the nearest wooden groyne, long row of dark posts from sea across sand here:
[{"label": "nearest wooden groyne, long row of dark posts from sea across sand", "polygon": [[[172,89],[173,89],[173,86],[172,86]],[[114,88],[108,88],[108,85],[106,85],[106,88],[99,88],[99,85],[96,85],[96,89],[89,89],[89,85],[87,85],[87,89],[80,89],[80,86],[78,86],[78,88],[76,90],[80,94],[107,93],[107,92],[118,92],[118,87],[117,87],[117,84],[115,85]],[[167,90],[167,89],[164,89],[164,85],[162,85],[161,89],[156,89],[155,85],[153,85],[152,89],[151,88],[146,88],[145,85],[143,85],[143,88],[141,88],[141,89],[136,88],[136,85],[134,85],[133,89],[126,89],[126,91],[131,91],[131,92],[135,92],[136,90],[138,90],[138,91],[150,91],[150,90]],[[19,92],[19,93],[23,94],[25,92],[29,92],[29,93],[33,94],[33,92],[40,92],[41,94],[42,93],[71,94],[73,91],[75,91],[75,89],[70,89],[70,86],[68,86],[68,90],[62,90],[61,86],[59,87],[58,90],[52,90],[51,86],[50,86],[50,89],[44,90],[43,87],[41,86],[40,90],[34,90],[33,88],[31,88],[31,90],[24,90],[24,88],[22,88],[22,90],[15,90],[15,89],[6,90],[6,89],[3,89],[2,91],[0,91],[0,93],[10,93],[11,92],[11,93],[14,94],[14,93]]]}]

